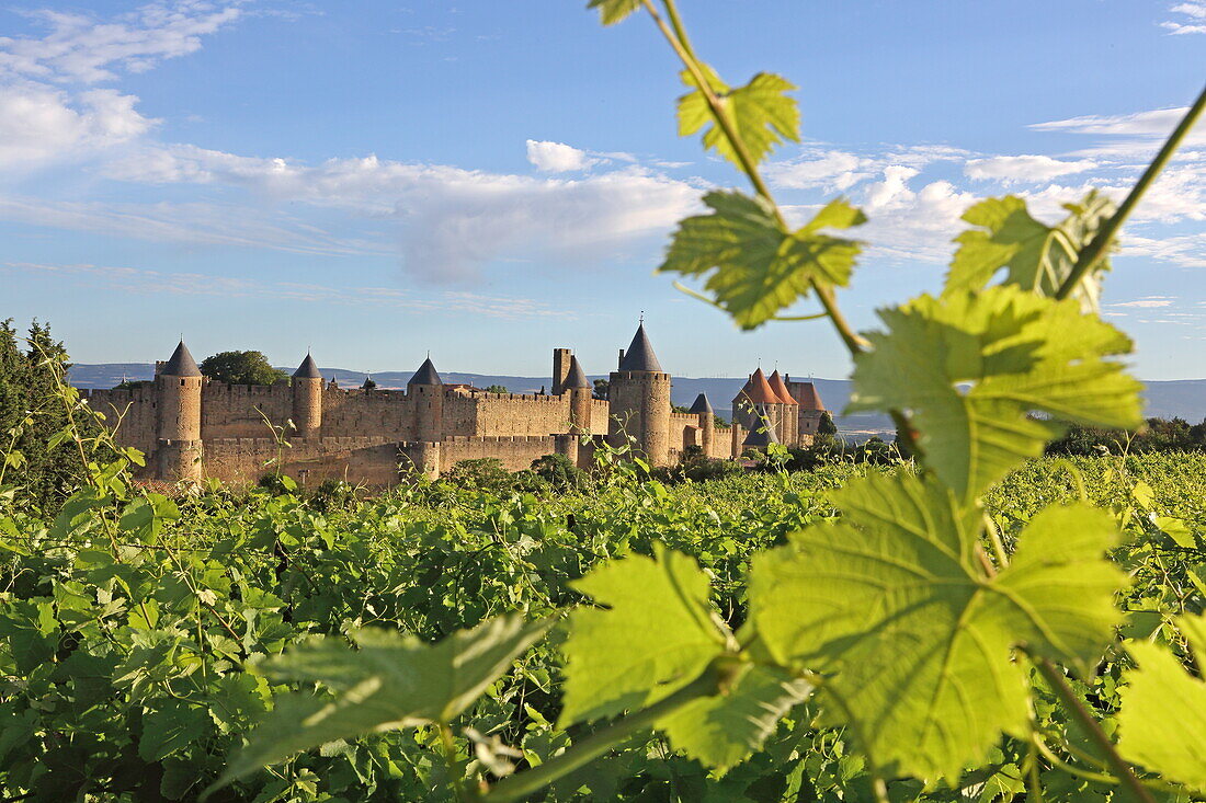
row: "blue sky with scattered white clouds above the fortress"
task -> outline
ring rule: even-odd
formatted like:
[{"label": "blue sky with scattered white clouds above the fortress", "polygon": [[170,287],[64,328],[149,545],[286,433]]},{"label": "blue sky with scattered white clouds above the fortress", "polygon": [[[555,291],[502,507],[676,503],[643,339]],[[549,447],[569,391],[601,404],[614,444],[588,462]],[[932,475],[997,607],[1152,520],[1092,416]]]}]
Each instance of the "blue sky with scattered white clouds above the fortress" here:
[{"label": "blue sky with scattered white clouds above the fortress", "polygon": [[[841,377],[821,323],[743,334],[652,276],[674,222],[737,186],[675,135],[648,18],[584,2],[247,0],[0,8],[0,316],[77,362],[259,348],[279,364],[611,369],[643,310],[675,374],[761,359]],[[1119,197],[1206,81],[1206,2],[683,1],[731,83],[801,88],[777,198],[871,223],[843,306],[941,282],[959,215]],[[813,311],[803,301],[796,313]],[[1126,229],[1103,311],[1143,379],[1206,376],[1206,127]]]}]

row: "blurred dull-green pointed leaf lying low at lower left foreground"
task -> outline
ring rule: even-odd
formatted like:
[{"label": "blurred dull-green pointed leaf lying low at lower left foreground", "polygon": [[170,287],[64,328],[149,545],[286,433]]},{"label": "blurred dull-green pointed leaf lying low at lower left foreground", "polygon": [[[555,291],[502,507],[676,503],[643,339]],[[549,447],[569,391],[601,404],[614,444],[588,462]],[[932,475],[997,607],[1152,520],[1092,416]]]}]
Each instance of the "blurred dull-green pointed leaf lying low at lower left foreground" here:
[{"label": "blurred dull-green pointed leaf lying low at lower left foreground", "polygon": [[[275,681],[321,682],[335,697],[294,692],[275,699],[216,786],[308,750],[362,733],[449,722],[544,635],[550,621],[487,620],[437,644],[382,629],[315,638],[260,667]],[[215,787],[216,787],[215,786]]]}]

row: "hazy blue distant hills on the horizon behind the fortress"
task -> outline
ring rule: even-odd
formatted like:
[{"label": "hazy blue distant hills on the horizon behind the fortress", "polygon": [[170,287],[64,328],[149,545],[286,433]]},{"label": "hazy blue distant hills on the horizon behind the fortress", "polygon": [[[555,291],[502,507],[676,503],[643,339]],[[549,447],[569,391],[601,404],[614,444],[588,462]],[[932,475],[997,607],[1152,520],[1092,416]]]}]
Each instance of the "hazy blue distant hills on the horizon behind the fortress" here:
[{"label": "hazy blue distant hills on the horizon behind the fortress", "polygon": [[[287,369],[292,370],[292,369]],[[323,368],[322,375],[333,379],[341,387],[359,387],[367,376],[363,371],[350,371],[343,368]],[[402,389],[411,371],[380,371],[373,374],[373,381],[382,389]],[[508,376],[502,374],[458,374],[441,373],[449,383],[470,383],[475,387],[502,385],[511,393],[537,393],[540,388],[549,389],[551,380],[548,376]],[[150,363],[100,363],[95,365],[72,365],[71,383],[81,388],[109,388],[122,380],[148,380],[154,377],[154,365]],[[590,377],[607,379],[603,375]],[[797,377],[798,379],[798,377]],[[885,415],[859,414],[850,416],[836,415],[845,408],[850,398],[849,380],[813,379],[825,406],[835,411],[841,430],[854,440],[862,440],[873,434],[894,432],[891,421]],[[737,395],[745,380],[733,379],[689,379],[675,376],[671,389],[671,402],[690,406],[695,397],[707,393],[716,414],[732,416],[732,399]],[[1190,423],[1206,418],[1206,379],[1175,380],[1166,382],[1144,382],[1143,395],[1147,400],[1144,415],[1160,418],[1181,417]]]}]

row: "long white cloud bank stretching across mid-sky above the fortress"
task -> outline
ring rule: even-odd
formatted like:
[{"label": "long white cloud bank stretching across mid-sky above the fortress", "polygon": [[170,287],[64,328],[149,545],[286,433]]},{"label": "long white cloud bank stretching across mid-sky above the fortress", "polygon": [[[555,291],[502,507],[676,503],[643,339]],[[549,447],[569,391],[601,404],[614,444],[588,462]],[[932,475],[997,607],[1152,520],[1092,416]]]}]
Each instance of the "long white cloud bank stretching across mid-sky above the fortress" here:
[{"label": "long white cloud bank stretching across mid-sky above the fortress", "polygon": [[[144,148],[109,163],[105,171],[111,178],[140,183],[235,186],[275,205],[302,201],[347,210],[379,223],[390,221],[405,270],[435,282],[473,281],[493,259],[550,254],[585,259],[615,251],[636,239],[667,231],[695,209],[699,195],[695,183],[640,168],[574,180],[539,178],[376,157],[330,159],[311,166],[194,146]],[[0,216],[5,213],[0,206]],[[244,227],[227,233],[215,225],[204,236],[239,233],[253,240],[254,231],[244,233],[244,228],[264,213],[263,209],[248,212]],[[94,217],[80,219],[76,210],[54,211],[54,217],[60,224],[76,219],[76,225],[95,225]],[[270,247],[288,242],[288,230],[289,225],[271,218],[262,224]],[[175,222],[147,229],[169,239],[178,231]]]}]

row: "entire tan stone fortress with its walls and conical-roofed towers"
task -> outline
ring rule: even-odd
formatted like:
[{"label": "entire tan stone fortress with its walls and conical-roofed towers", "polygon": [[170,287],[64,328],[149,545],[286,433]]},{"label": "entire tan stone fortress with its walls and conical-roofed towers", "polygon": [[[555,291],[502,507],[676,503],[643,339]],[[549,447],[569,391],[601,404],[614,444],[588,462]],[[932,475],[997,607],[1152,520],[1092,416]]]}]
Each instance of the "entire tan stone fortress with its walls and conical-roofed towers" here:
[{"label": "entire tan stone fortress with its walls and conical-roofed towers", "polygon": [[554,351],[551,393],[517,394],[446,386],[429,358],[405,391],[340,388],[309,354],[276,385],[227,385],[203,377],[183,342],[156,364],[152,383],[82,393],[119,444],[146,453],[147,479],[236,486],[276,471],[277,462],[310,487],[324,480],[388,486],[410,471],[435,477],[478,458],[519,470],[556,453],[590,467],[603,440],[631,444],[655,465],[677,463],[691,447],[733,459],[767,442],[807,445],[824,414],[810,382],[784,381],[778,371],[771,380],[761,369],[750,375],[733,400],[732,428],[715,426],[703,394],[691,412],[673,412],[669,389],[642,324],[620,352],[608,399],[593,398],[568,348]]}]

